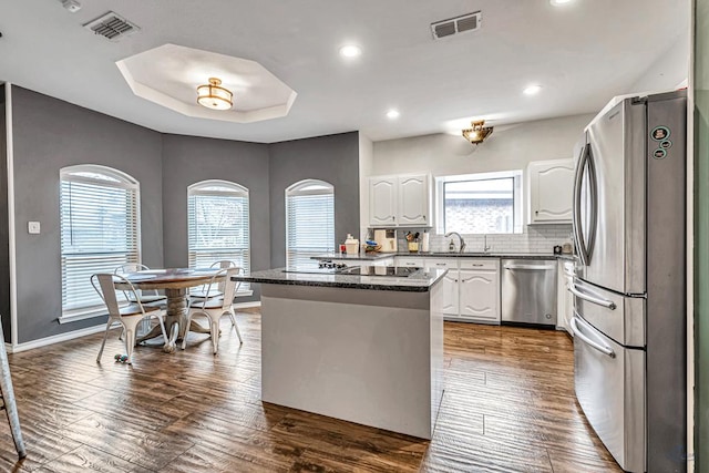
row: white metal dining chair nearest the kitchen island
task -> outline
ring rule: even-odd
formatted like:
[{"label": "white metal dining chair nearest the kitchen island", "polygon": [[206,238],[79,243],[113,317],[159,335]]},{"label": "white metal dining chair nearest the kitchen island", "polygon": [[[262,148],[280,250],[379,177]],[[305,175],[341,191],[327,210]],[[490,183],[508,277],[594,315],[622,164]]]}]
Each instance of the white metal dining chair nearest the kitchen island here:
[{"label": "white metal dining chair nearest the kitchen island", "polygon": [[[207,294],[210,294],[209,289],[224,284],[224,291],[222,297],[218,298],[205,298],[199,304],[189,307],[187,311],[187,327],[194,316],[203,316],[209,320],[209,336],[212,337],[212,347],[214,354],[217,353],[219,345],[219,319],[225,313],[228,313],[232,319],[232,325],[236,329],[236,336],[239,339],[239,343],[244,343],[242,340],[242,333],[239,327],[236,325],[236,312],[234,311],[234,296],[238,288],[238,281],[232,279],[233,276],[238,275],[240,268],[225,268],[219,269],[219,273],[212,277],[209,285],[207,286]],[[182,349],[184,350],[187,345],[187,336],[182,340]]]}]

